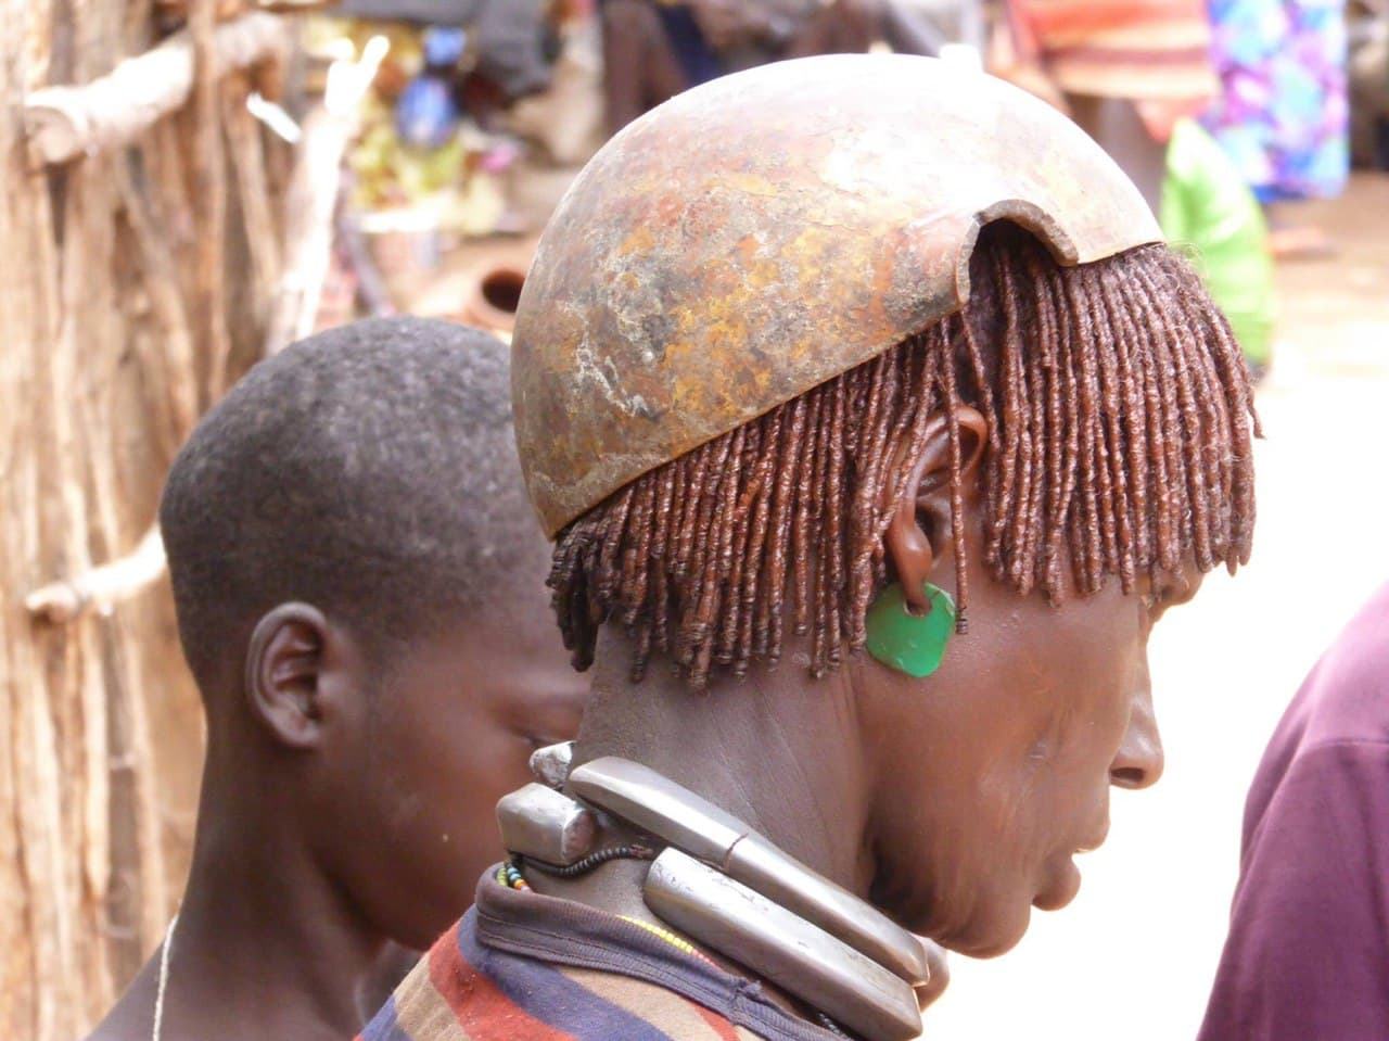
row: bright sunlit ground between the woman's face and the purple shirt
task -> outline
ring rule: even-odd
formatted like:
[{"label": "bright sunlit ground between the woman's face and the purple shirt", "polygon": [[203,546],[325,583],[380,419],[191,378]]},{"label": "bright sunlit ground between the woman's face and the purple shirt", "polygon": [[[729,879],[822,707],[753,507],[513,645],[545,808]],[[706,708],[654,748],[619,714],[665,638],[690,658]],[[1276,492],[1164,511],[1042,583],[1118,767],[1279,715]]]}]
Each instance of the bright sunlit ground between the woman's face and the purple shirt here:
[{"label": "bright sunlit ground between the woman's face and the purple shirt", "polygon": [[1245,792],[1321,649],[1389,581],[1389,178],[1288,211],[1338,245],[1278,270],[1254,559],[1153,635],[1163,781],[1115,792],[1085,885],[993,962],[953,960],[928,1041],[1193,1038],[1224,942]]}]

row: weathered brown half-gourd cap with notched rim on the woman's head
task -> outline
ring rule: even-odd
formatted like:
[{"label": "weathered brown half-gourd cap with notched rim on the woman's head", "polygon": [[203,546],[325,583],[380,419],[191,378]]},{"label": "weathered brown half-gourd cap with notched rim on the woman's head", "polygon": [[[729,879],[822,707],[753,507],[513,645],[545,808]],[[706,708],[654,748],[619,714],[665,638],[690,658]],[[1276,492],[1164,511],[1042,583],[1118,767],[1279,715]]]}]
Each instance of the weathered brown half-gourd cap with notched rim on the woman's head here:
[{"label": "weathered brown half-gourd cap with notched rim on the woman's head", "polygon": [[560,203],[517,310],[546,535],[958,310],[1004,218],[1063,265],[1161,240],[1079,128],[935,58],[764,65],[636,120]]}]

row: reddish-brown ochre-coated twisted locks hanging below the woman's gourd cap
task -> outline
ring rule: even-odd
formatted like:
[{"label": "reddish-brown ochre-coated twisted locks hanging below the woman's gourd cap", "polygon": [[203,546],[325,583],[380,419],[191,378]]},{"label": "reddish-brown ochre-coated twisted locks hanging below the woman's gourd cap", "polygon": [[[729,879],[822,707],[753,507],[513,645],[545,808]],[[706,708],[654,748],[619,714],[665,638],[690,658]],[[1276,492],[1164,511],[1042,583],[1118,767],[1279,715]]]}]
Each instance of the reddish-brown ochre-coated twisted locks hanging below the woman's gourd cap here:
[{"label": "reddish-brown ochre-coated twisted locks hanging below the woman's gourd cap", "polygon": [[[592,663],[610,617],[694,688],[782,653],[788,607],[811,671],[861,648],[888,581],[883,535],[926,442],[960,403],[989,423],[985,559],[1058,603],[1107,575],[1249,559],[1254,523],[1247,370],[1185,261],[1142,246],[1058,267],[993,225],[968,306],[886,353],[632,481],[565,528],[550,585],[565,645]],[[961,446],[950,431],[951,538],[968,607]],[[899,446],[906,445],[906,450]],[[888,493],[883,493],[883,492]]]}]

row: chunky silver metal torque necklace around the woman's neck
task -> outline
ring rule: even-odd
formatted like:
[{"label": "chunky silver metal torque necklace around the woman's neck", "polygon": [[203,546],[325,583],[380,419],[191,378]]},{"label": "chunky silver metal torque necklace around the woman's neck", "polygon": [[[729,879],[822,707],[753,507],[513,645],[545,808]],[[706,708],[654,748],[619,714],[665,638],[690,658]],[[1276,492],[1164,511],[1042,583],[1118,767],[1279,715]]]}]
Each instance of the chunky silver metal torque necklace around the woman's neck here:
[{"label": "chunky silver metal torque necklace around the woman's neck", "polygon": [[540,782],[497,803],[507,851],[572,876],[613,852],[594,852],[600,819],[625,821],[664,846],[642,888],[657,919],[868,1041],[921,1033],[914,988],[931,969],[915,937],[650,767],[608,756],[571,770],[571,756],[540,749]]}]

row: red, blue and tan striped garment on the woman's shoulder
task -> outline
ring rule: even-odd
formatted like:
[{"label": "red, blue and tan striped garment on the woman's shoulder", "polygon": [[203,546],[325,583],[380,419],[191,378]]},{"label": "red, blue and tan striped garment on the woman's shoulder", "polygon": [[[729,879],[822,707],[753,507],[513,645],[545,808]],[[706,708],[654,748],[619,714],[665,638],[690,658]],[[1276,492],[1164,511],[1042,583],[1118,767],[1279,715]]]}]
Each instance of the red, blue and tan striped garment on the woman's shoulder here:
[{"label": "red, blue and tan striped garment on the woman's shoulder", "polygon": [[614,915],[492,873],[358,1041],[836,1041]]}]

